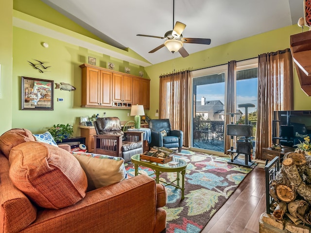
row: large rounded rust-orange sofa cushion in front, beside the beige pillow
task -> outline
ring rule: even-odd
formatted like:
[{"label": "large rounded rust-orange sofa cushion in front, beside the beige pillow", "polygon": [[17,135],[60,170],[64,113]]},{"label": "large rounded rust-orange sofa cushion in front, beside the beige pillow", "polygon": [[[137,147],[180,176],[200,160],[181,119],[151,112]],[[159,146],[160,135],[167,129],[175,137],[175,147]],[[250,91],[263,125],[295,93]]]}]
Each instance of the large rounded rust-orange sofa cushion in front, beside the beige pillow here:
[{"label": "large rounded rust-orange sofa cushion in front, beside the beige pillow", "polygon": [[86,174],[68,151],[41,142],[24,142],[10,153],[10,178],[37,205],[59,209],[85,197]]}]

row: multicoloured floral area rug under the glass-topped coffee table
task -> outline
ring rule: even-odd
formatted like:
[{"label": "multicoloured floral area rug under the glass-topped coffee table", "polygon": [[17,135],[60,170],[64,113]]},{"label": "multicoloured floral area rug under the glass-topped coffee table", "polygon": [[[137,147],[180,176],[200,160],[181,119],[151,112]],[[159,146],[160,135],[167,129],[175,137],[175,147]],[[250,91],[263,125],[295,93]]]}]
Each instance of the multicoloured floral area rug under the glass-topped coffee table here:
[{"label": "multicoloured floral area rug under the glass-topped coffee table", "polygon": [[[166,186],[167,233],[199,233],[222,207],[252,168],[228,164],[229,158],[182,150],[174,157],[188,162],[185,175],[185,199],[181,189]],[[130,177],[135,175],[132,163],[125,163]],[[138,172],[155,178],[153,170],[139,166]],[[181,175],[180,175],[181,178]],[[161,181],[174,181],[176,173],[162,173]]]}]

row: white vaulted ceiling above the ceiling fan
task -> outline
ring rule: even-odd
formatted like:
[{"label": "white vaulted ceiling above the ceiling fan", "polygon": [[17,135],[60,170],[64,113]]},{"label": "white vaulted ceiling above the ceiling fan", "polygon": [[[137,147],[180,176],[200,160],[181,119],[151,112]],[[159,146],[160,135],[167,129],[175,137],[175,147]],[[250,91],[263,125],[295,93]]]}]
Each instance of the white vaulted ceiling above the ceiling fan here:
[{"label": "white vaulted ceiling above the ceiling fan", "polygon": [[130,48],[152,64],[180,54],[167,48],[149,53],[173,30],[186,24],[183,37],[210,38],[210,45],[185,43],[189,54],[296,24],[303,0],[42,0],[55,10],[120,49]]}]

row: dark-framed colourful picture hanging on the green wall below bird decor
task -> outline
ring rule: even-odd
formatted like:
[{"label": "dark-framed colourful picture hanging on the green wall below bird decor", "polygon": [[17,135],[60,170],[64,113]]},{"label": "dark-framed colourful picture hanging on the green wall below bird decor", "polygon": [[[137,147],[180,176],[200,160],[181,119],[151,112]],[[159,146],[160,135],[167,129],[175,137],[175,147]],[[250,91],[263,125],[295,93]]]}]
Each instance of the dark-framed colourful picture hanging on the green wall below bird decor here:
[{"label": "dark-framed colourful picture hanging on the green wall below bird decor", "polygon": [[54,110],[54,81],[21,77],[21,110]]}]

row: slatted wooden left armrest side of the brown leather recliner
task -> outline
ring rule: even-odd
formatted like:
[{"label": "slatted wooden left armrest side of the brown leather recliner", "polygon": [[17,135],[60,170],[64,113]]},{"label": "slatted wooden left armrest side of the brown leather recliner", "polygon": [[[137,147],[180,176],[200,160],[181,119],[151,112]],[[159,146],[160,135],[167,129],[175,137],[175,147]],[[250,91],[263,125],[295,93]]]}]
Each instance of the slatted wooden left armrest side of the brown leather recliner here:
[{"label": "slatted wooden left armrest side of the brown leather recliner", "polygon": [[94,135],[94,153],[121,157],[122,135]]}]

